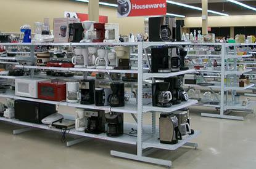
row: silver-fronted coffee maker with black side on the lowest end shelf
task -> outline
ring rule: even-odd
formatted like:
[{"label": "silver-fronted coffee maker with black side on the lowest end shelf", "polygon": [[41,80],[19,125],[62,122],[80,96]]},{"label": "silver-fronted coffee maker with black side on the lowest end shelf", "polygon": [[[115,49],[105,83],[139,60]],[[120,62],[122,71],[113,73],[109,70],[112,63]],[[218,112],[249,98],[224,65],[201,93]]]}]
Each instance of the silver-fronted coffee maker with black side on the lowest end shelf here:
[{"label": "silver-fronted coffee maker with black side on the lowest end shelf", "polygon": [[171,113],[163,112],[159,118],[160,143],[176,144],[182,140],[179,130],[178,118]]}]

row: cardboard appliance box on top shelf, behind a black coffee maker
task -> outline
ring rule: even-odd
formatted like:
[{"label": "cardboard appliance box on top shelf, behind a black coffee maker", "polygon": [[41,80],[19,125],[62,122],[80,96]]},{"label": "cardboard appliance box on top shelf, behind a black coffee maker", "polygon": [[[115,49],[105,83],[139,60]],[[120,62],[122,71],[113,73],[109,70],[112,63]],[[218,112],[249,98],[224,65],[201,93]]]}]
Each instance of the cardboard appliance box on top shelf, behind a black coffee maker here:
[{"label": "cardboard appliance box on top shelf, behind a black coffee maker", "polygon": [[69,24],[80,23],[76,18],[54,18],[54,43],[69,42]]}]

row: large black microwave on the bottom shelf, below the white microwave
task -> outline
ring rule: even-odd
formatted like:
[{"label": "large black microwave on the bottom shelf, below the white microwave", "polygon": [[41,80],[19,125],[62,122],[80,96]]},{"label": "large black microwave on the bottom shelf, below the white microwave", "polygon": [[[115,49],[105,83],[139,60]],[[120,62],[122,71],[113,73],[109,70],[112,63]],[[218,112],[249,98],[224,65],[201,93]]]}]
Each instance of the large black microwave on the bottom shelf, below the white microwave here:
[{"label": "large black microwave on the bottom shelf, below the white microwave", "polygon": [[37,103],[34,101],[15,100],[15,119],[41,124],[41,120],[56,113],[55,104]]}]

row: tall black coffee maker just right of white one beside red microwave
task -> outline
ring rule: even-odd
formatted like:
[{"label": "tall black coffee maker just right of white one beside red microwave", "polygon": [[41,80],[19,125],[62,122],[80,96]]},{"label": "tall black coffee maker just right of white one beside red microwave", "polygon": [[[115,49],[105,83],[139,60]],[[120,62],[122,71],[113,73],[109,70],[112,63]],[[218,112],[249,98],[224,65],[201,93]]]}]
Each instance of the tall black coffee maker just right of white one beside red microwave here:
[{"label": "tall black coffee maker just right of white one beside red microwave", "polygon": [[81,104],[94,104],[94,89],[94,79],[81,81]]}]

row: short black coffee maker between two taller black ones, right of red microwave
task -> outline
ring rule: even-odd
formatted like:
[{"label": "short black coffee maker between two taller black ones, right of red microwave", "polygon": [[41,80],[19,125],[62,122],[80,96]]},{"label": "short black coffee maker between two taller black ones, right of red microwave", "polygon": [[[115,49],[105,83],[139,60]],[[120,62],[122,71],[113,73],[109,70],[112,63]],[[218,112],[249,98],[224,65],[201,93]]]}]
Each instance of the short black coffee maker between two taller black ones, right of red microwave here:
[{"label": "short black coffee maker between two taller black ones, right of red microwave", "polygon": [[95,106],[108,106],[109,95],[112,94],[111,88],[95,88]]}]

